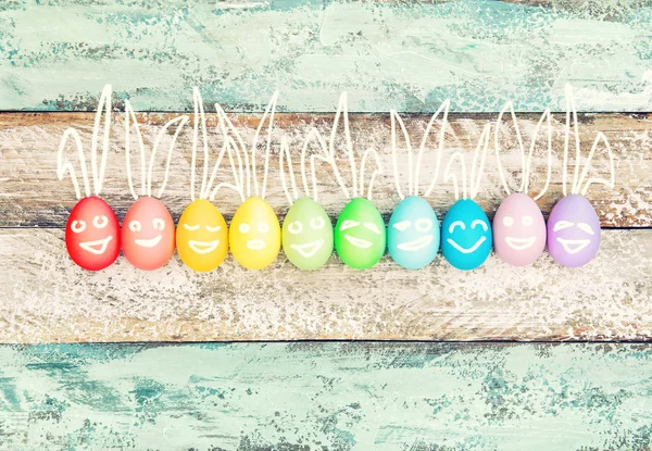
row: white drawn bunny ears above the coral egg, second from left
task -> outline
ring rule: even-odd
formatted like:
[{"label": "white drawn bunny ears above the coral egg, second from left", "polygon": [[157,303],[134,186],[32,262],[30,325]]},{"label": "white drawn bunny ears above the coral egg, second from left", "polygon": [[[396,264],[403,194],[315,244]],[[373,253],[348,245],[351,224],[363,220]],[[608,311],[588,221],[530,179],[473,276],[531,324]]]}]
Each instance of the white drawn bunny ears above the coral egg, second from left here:
[{"label": "white drawn bunny ears above the coral egg, second from left", "polygon": [[[126,154],[126,167],[127,167],[127,179],[129,184],[129,190],[131,191],[131,196],[134,199],[138,200],[138,193],[134,189],[134,180],[131,176],[131,164],[130,164],[130,135],[131,129],[136,131],[136,136],[138,139],[138,147],[140,153],[140,179],[141,179],[141,196],[152,196],[152,177],[153,177],[153,166],[156,158],[156,153],[159,151],[159,147],[161,146],[161,141],[163,137],[167,134],[167,130],[172,126],[176,126],[173,138],[167,148],[167,156],[165,159],[165,174],[163,177],[163,181],[161,183],[161,188],[159,189],[159,193],[156,197],[163,196],[163,191],[165,190],[165,186],[167,185],[167,178],[170,175],[170,162],[172,161],[172,151],[176,145],[176,140],[184,128],[184,125],[188,123],[189,117],[184,115],[179,117],[175,117],[172,121],[168,121],[162,128],[159,130],[154,143],[152,146],[152,150],[149,159],[149,166],[147,165],[146,160],[146,151],[145,151],[145,142],[142,140],[142,134],[140,133],[140,126],[138,125],[138,120],[136,118],[136,114],[134,109],[131,108],[131,103],[127,100],[125,102],[125,154]],[[146,170],[147,167],[147,170]]]}]

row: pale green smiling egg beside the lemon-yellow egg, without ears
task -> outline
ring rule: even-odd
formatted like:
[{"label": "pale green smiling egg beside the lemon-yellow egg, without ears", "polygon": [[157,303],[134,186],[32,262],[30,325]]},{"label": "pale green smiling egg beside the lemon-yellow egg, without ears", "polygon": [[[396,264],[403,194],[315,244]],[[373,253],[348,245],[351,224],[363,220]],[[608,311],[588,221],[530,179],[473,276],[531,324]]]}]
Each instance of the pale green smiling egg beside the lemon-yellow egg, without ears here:
[{"label": "pale green smiling egg beside the lemon-yellow egg, without ears", "polygon": [[317,270],[333,253],[333,224],[324,208],[310,198],[298,199],[283,222],[283,250],[300,270]]}]

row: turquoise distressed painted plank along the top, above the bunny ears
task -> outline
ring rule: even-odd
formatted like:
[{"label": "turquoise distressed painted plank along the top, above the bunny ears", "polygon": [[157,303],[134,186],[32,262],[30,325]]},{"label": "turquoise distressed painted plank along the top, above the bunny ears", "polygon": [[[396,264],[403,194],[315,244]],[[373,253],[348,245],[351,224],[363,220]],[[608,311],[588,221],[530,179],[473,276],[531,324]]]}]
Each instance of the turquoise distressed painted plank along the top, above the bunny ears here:
[{"label": "turquoise distressed painted plank along the top, above the bunny ears", "polygon": [[[105,83],[137,110],[652,111],[652,8],[600,0],[11,0],[0,110],[92,110]],[[551,4],[559,8],[550,8]],[[117,108],[122,108],[117,102]]]}]

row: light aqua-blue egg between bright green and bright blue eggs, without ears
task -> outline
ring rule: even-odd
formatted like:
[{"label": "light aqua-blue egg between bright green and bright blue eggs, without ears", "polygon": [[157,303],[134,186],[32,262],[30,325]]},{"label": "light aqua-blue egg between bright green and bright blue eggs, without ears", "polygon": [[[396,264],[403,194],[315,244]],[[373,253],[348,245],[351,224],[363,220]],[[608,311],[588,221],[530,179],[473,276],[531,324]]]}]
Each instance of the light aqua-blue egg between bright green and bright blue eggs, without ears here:
[{"label": "light aqua-blue egg between bright green and bright blue eggs, without ears", "polygon": [[439,221],[424,198],[411,196],[399,203],[389,220],[387,247],[393,261],[408,270],[421,270],[435,260]]}]

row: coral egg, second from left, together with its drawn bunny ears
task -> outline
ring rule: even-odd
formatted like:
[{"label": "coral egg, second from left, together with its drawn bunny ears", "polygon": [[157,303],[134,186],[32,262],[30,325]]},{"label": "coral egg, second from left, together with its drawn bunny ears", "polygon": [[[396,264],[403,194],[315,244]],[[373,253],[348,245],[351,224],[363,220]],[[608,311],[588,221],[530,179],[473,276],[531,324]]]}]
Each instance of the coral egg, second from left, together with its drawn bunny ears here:
[{"label": "coral egg, second from left, together with its drawn bunny ears", "polygon": [[[177,137],[184,125],[188,122],[188,116],[175,117],[167,122],[156,135],[147,165],[145,142],[140,133],[138,121],[131,104],[125,102],[125,155],[126,172],[129,184],[129,191],[136,200],[127,210],[123,221],[122,247],[126,259],[137,268],[145,271],[154,271],[164,266],[172,255],[175,248],[174,221],[167,208],[159,200],[165,191],[167,176],[170,173],[170,162],[172,151],[174,150]],[[174,135],[168,137],[168,128],[176,126]],[[135,133],[138,142],[140,155],[140,198],[134,187],[131,177],[131,133]],[[156,153],[163,140],[167,140],[167,155],[164,162],[164,176],[156,197],[152,197],[152,176]]]}]

